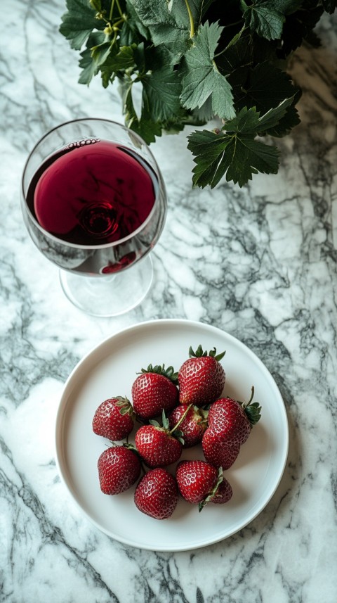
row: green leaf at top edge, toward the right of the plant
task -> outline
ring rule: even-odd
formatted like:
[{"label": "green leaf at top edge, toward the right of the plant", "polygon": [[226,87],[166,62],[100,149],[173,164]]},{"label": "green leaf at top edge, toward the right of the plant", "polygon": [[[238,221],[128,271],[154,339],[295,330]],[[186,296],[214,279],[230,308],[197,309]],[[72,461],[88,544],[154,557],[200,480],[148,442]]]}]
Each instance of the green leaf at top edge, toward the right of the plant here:
[{"label": "green leaf at top edge, toward the right of the plant", "polygon": [[279,39],[282,35],[284,14],[275,7],[273,1],[256,1],[251,6],[241,2],[246,27],[251,32],[268,40]]}]

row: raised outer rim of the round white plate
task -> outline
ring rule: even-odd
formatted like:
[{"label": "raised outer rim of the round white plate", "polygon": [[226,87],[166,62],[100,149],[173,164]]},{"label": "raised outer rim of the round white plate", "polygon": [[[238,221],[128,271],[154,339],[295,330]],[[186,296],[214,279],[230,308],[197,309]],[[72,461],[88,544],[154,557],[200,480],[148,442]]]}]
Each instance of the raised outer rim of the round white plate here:
[{"label": "raised outer rim of the round white plate", "polygon": [[[112,340],[114,340],[114,338],[121,336],[121,334],[128,334],[131,331],[136,331],[137,329],[143,329],[143,328],[146,328],[147,326],[154,326],[155,324],[161,324],[164,326],[164,324],[173,324],[173,323],[177,324],[177,325],[184,324],[185,326],[192,326],[192,327],[194,326],[198,329],[201,327],[201,328],[206,329],[207,331],[217,331],[218,333],[220,332],[220,334],[229,338],[232,341],[232,343],[234,343],[234,345],[238,345],[239,348],[241,348],[244,351],[244,353],[248,353],[249,355],[251,355],[251,357],[253,357],[254,362],[256,362],[259,365],[259,368],[262,370],[263,373],[265,373],[265,375],[267,376],[267,379],[269,379],[272,382],[273,386],[275,387],[276,392],[278,393],[279,402],[281,402],[279,404],[279,409],[282,412],[283,421],[284,421],[285,438],[283,440],[283,446],[282,446],[282,464],[279,465],[279,476],[277,478],[277,481],[275,481],[275,484],[274,484],[273,488],[270,490],[270,493],[267,496],[267,498],[263,500],[263,505],[258,506],[258,508],[255,511],[253,511],[246,518],[246,521],[244,521],[244,523],[240,524],[239,528],[234,527],[232,531],[227,532],[225,535],[220,534],[216,538],[211,538],[211,540],[206,540],[206,541],[202,540],[200,542],[196,542],[195,544],[191,544],[191,545],[178,545],[177,544],[174,547],[173,547],[173,545],[168,545],[167,547],[165,547],[165,546],[154,547],[153,545],[150,545],[150,543],[148,545],[145,545],[145,544],[140,545],[140,544],[137,544],[134,540],[131,540],[130,538],[122,537],[121,535],[115,535],[115,534],[111,533],[109,530],[107,530],[106,528],[101,526],[100,523],[98,523],[98,521],[95,521],[95,519],[93,519],[93,517],[91,517],[91,515],[88,514],[88,512],[86,512],[86,510],[81,506],[80,502],[77,500],[77,497],[75,497],[74,494],[72,493],[70,486],[67,484],[67,479],[66,479],[65,475],[63,474],[63,470],[61,468],[60,459],[59,459],[58,440],[62,440],[62,417],[63,417],[63,414],[65,413],[65,409],[67,407],[67,400],[69,400],[69,398],[70,398],[70,392],[67,393],[67,390],[70,387],[75,374],[79,371],[81,365],[84,364],[85,362],[87,362],[92,355],[94,355],[95,353],[98,352],[98,350],[100,348],[103,348],[105,345],[107,345],[107,343],[109,341],[112,341]],[[98,362],[98,364],[99,363],[100,362]],[[197,550],[199,548],[204,548],[204,547],[216,544],[217,542],[226,540],[227,538],[230,538],[230,536],[238,533],[243,528],[245,528],[247,525],[249,525],[249,523],[251,523],[251,521],[256,519],[256,517],[261,512],[263,512],[263,509],[265,509],[265,507],[267,507],[267,504],[269,504],[270,500],[272,499],[272,496],[275,495],[275,492],[277,491],[277,488],[279,487],[279,483],[282,480],[282,476],[284,475],[284,469],[286,467],[286,461],[287,461],[287,458],[289,455],[289,421],[288,421],[288,417],[286,414],[286,405],[284,404],[282,394],[279,391],[279,387],[277,386],[277,383],[276,383],[274,377],[270,373],[270,370],[267,369],[267,367],[262,362],[262,360],[260,360],[258,355],[256,355],[256,353],[253,352],[253,350],[251,350],[251,348],[249,348],[245,343],[243,343],[237,337],[235,337],[234,335],[232,335],[230,333],[227,333],[227,331],[224,331],[223,329],[221,329],[218,326],[215,326],[213,324],[208,324],[206,322],[184,319],[184,318],[149,319],[149,320],[145,320],[145,321],[141,321],[141,322],[137,322],[137,323],[128,325],[126,327],[122,327],[121,329],[118,329],[113,334],[110,334],[109,336],[103,338],[103,340],[101,340],[99,343],[97,343],[96,345],[93,345],[93,347],[90,350],[88,350],[88,352],[86,354],[84,354],[83,357],[81,357],[81,359],[77,362],[77,364],[75,364],[74,368],[72,369],[70,374],[67,376],[67,379],[62,386],[62,390],[61,390],[61,393],[59,396],[58,408],[57,408],[56,417],[55,417],[54,450],[55,450],[55,464],[56,464],[56,468],[58,470],[58,476],[60,476],[60,480],[61,480],[63,486],[65,487],[67,494],[71,497],[72,501],[77,506],[77,508],[81,512],[82,516],[85,516],[86,519],[88,519],[88,521],[91,523],[91,525],[95,526],[95,528],[97,528],[100,532],[105,533],[105,535],[107,535],[109,538],[112,538],[112,540],[117,540],[117,542],[121,542],[122,544],[131,546],[133,548],[138,548],[139,550],[149,550],[149,551],[155,551],[155,552],[183,552],[183,551],[188,551],[188,550]]]}]

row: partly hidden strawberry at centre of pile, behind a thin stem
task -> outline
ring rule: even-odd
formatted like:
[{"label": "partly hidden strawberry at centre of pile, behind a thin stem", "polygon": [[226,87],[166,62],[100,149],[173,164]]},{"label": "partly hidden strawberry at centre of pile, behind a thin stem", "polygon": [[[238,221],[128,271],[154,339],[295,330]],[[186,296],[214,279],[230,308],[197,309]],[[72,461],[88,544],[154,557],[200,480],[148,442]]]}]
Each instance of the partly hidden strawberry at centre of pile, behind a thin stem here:
[{"label": "partly hidden strawberry at centre of pile, behind a thin stem", "polygon": [[[179,429],[183,433],[183,448],[191,448],[201,442],[207,427],[207,414],[206,410],[187,404],[180,404],[169,414],[170,427],[179,424]],[[183,420],[180,422],[182,417]]]}]

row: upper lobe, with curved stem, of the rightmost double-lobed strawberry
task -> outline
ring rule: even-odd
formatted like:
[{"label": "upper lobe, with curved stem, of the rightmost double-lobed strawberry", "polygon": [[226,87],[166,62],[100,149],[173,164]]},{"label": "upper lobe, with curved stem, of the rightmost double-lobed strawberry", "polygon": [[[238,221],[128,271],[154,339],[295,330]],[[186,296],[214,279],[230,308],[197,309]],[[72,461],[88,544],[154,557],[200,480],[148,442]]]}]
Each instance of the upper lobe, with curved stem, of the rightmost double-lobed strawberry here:
[{"label": "upper lobe, with curved stem, of the rightmost double-lobed strawberry", "polygon": [[253,395],[254,388],[251,388],[251,398],[247,403],[232,398],[216,400],[209,409],[209,429],[231,445],[244,444],[261,416],[258,402],[252,403]]}]

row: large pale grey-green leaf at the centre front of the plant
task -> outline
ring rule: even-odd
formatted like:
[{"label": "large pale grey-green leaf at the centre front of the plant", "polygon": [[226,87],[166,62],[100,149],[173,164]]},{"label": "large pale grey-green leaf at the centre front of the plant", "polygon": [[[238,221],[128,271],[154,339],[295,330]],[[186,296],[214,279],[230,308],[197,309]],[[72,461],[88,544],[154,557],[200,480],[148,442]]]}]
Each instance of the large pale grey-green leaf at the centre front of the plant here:
[{"label": "large pale grey-green leaf at the centre front of the plant", "polygon": [[222,30],[217,23],[199,27],[192,48],[185,54],[180,99],[185,108],[194,109],[201,108],[211,96],[213,113],[220,118],[231,118],[234,115],[232,89],[214,61]]}]

